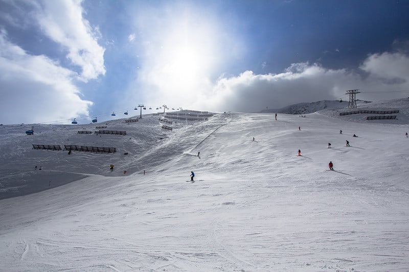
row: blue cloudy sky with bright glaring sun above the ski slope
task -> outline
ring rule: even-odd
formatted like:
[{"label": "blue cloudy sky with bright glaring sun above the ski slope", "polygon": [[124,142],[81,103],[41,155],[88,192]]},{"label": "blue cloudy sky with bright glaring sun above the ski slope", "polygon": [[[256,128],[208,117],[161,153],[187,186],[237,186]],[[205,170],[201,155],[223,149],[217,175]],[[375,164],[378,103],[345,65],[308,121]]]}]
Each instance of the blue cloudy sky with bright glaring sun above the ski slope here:
[{"label": "blue cloudy sky with bright glaring sun above the ski slope", "polygon": [[408,12],[407,1],[0,0],[0,123],[87,123],[137,105],[258,112],[350,89],[407,97]]}]

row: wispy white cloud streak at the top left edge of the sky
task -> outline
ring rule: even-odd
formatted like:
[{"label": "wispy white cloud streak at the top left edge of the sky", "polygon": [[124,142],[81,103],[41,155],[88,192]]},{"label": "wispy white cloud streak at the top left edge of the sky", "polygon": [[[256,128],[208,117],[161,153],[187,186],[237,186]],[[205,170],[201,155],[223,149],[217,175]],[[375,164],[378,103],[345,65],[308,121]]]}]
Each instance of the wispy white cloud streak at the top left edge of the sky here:
[{"label": "wispy white cloud streak at the top left edge of the sky", "polygon": [[104,51],[98,44],[100,32],[82,17],[80,0],[41,0],[37,15],[43,32],[68,51],[67,58],[81,68],[83,81],[105,75]]}]

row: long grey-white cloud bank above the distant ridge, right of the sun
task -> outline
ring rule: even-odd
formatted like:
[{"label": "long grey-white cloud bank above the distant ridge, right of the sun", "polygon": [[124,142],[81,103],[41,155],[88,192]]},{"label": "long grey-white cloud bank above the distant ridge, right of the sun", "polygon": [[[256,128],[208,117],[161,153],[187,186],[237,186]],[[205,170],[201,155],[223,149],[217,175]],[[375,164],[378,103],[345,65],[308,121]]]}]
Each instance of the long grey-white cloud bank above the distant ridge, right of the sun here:
[{"label": "long grey-white cloud bank above the distant ridge, right of the sun", "polygon": [[[279,74],[255,75],[245,71],[239,76],[220,78],[211,92],[195,105],[217,111],[256,112],[302,102],[336,100],[349,89],[360,89],[361,100],[406,97],[392,90],[409,90],[405,76],[409,58],[400,53],[368,56],[360,66],[367,75],[346,69],[327,69],[319,64],[296,63]],[[345,97],[345,96],[344,96]],[[345,97],[348,99],[348,97]]]}]

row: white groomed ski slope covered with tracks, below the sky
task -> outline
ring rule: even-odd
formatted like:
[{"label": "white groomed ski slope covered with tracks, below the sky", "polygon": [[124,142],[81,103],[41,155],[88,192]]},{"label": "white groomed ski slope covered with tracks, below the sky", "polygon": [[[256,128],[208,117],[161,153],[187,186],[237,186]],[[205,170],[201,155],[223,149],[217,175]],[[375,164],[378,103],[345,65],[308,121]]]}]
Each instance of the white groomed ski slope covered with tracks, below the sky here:
[{"label": "white groomed ski slope covered with tracks, below the sky", "polygon": [[[407,271],[408,100],[379,105],[398,120],[326,110],[220,113],[172,131],[152,115],[1,126],[0,270]],[[77,133],[95,126],[127,135]]]}]

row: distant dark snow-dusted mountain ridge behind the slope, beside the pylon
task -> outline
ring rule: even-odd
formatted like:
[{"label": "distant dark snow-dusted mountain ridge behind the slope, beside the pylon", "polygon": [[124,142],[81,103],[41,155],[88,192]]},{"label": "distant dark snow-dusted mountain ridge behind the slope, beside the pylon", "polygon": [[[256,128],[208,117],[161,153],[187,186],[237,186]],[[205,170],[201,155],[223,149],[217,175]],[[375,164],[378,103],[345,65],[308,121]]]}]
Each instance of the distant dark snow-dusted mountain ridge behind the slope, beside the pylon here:
[{"label": "distant dark snow-dusted mountain ridge behind the slope, beside the pylon", "polygon": [[[281,109],[265,109],[262,113],[285,113],[285,114],[307,114],[313,113],[325,109],[343,109],[348,108],[348,101],[333,101],[333,100],[323,100],[311,103],[298,103],[290,105]],[[371,103],[368,101],[357,100],[357,106],[365,105]]]}]

